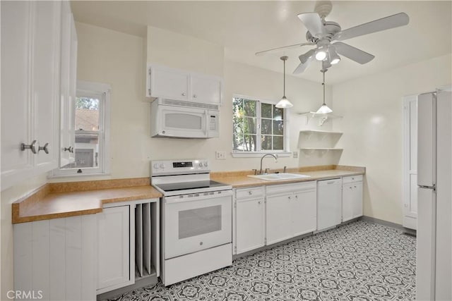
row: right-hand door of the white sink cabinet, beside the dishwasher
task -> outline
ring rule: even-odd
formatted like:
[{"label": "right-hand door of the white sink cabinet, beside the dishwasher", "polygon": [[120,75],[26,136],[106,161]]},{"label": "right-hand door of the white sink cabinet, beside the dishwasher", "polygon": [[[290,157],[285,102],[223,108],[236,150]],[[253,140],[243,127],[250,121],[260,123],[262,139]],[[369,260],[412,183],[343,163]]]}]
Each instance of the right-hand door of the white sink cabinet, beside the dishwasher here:
[{"label": "right-hand door of the white sink cabinet, beside the dishwasher", "polygon": [[316,189],[295,192],[292,202],[292,235],[302,235],[317,228]]}]

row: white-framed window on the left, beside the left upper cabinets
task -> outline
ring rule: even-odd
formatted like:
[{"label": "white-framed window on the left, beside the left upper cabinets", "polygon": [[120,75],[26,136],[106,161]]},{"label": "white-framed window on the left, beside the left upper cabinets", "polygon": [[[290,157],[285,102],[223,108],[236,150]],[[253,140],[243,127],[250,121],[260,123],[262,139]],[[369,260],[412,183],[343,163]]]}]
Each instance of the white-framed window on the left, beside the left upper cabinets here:
[{"label": "white-framed window on the left, beside the left upper cabinets", "polygon": [[[68,127],[71,129],[69,144],[73,147],[68,159],[54,174],[75,176],[108,172],[109,94],[109,85],[77,82],[75,103],[70,112],[73,117],[68,118],[68,122],[73,123]],[[62,147],[61,158],[68,156],[66,152]]]}]

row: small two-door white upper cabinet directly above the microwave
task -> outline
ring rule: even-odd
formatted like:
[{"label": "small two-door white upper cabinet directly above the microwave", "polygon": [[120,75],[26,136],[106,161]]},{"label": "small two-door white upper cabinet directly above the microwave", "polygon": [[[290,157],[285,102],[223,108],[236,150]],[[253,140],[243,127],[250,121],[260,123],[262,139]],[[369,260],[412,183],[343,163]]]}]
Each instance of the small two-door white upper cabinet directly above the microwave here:
[{"label": "small two-door white upper cabinet directly above the microwave", "polygon": [[148,66],[146,97],[220,104],[222,78],[165,66]]}]

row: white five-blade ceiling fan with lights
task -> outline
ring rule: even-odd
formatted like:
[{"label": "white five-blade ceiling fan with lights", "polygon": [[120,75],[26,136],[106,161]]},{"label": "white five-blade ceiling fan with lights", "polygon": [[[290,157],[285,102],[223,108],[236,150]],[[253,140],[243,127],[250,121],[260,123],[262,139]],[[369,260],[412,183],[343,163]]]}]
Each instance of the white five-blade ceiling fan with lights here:
[{"label": "white five-blade ceiling fan with lights", "polygon": [[357,25],[347,30],[341,30],[338,23],[325,20],[326,16],[331,12],[332,7],[331,1],[316,1],[314,12],[299,13],[297,15],[299,20],[307,27],[306,39],[308,42],[259,51],[256,52],[256,56],[285,49],[316,45],[316,48],[310,49],[299,56],[300,63],[294,70],[294,74],[302,73],[306,70],[313,59],[323,61],[323,68],[329,68],[332,64],[340,61],[338,54],[357,63],[369,63],[375,56],[340,41],[407,25],[410,21],[406,13],[396,13],[396,15]]}]

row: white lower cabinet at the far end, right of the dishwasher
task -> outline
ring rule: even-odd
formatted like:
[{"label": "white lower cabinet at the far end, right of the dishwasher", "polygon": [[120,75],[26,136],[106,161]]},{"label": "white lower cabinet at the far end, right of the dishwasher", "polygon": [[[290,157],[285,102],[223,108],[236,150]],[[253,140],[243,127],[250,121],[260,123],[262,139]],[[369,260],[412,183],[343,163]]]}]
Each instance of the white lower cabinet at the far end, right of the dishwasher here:
[{"label": "white lower cabinet at the far end, right of the dishwasher", "polygon": [[362,216],[362,176],[343,178],[342,221]]}]

